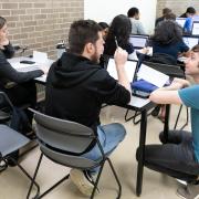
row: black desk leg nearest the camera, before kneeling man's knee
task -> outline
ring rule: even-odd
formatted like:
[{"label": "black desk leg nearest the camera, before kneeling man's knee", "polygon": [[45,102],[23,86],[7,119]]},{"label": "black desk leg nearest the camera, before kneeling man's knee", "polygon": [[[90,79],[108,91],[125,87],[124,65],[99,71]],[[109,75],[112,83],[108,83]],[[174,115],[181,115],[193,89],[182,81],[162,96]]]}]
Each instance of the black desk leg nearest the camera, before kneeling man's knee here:
[{"label": "black desk leg nearest the camera, before kneeling man's knee", "polygon": [[146,127],[147,127],[147,112],[142,112],[140,119],[140,135],[139,135],[139,159],[137,165],[137,185],[136,195],[140,196],[143,186],[143,171],[144,171],[144,160],[145,160],[145,142],[146,142]]}]

